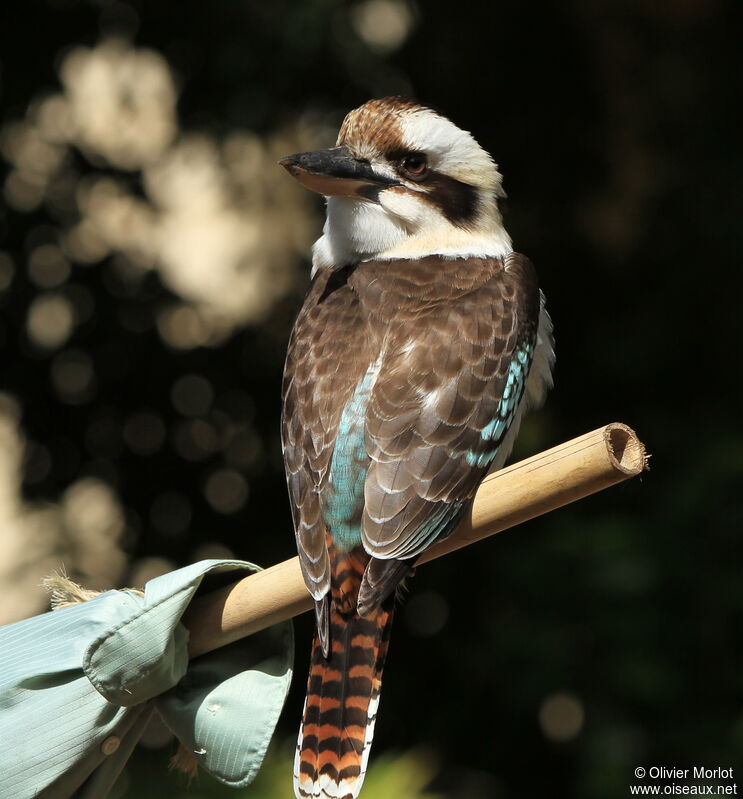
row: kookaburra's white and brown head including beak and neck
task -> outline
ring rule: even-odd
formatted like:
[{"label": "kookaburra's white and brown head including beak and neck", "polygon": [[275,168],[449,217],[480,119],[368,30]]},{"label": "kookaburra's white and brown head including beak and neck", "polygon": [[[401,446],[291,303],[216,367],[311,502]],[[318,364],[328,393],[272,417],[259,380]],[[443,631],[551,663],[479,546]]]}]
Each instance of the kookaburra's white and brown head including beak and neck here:
[{"label": "kookaburra's white and brown head including beak and neck", "polygon": [[370,100],[346,116],[335,147],[279,163],[328,198],[316,266],[511,250],[493,159],[470,133],[412,100]]}]

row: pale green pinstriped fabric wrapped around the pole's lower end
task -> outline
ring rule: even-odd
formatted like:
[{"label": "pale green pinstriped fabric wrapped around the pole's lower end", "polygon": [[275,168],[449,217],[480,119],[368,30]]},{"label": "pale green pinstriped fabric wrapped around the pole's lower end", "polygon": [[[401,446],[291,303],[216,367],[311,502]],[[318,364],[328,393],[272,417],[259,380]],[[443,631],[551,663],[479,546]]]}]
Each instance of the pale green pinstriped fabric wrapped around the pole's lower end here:
[{"label": "pale green pinstriped fabric wrapped around the pole's lower end", "polygon": [[205,770],[248,784],[289,689],[291,624],[189,664],[179,619],[199,588],[257,568],[201,561],[151,580],[144,597],[108,591],[0,627],[0,799],[105,796],[154,708]]}]

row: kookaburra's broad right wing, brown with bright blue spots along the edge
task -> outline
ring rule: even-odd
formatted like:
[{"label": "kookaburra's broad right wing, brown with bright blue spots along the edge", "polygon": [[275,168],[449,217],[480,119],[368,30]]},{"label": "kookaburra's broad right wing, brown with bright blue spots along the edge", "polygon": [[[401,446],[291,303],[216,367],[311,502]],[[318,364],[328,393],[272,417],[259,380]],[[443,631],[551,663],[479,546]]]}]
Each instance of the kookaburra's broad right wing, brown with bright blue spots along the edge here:
[{"label": "kookaburra's broad right wing, brown with bright blue spots along the edge", "polygon": [[540,295],[527,258],[497,263],[477,290],[390,329],[366,414],[362,538],[375,558],[413,558],[451,532],[518,415]]}]

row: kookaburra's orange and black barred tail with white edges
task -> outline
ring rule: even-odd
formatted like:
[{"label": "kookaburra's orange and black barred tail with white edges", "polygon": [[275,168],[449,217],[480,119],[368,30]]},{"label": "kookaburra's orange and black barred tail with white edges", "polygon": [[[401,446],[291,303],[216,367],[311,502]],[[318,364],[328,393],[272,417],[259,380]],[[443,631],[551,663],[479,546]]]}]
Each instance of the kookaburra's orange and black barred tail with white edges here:
[{"label": "kookaburra's orange and black barred tail with white edges", "polygon": [[330,656],[318,635],[294,760],[298,799],[356,799],[364,782],[382,668],[392,626],[393,598],[359,616],[331,602]]}]

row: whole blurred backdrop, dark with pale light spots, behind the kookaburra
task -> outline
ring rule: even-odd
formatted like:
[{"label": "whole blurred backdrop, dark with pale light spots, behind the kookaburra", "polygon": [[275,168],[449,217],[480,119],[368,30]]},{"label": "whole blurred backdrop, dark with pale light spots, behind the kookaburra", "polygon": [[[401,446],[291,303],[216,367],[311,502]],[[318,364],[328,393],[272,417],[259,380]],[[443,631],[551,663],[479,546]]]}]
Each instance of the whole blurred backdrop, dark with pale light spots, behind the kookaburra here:
[{"label": "whole blurred backdrop, dark with pale light spots, behind the kookaburra", "polygon": [[[3,4],[4,612],[37,612],[50,561],[105,586],[292,554],[279,384],[322,207],[272,161],[332,142],[369,97],[414,93],[501,165],[555,321],[555,390],[516,456],[618,419],[653,460],[419,571],[371,759],[397,788],[376,790],[431,776],[450,799],[593,799],[626,796],[637,765],[739,764],[742,16],[734,0]],[[86,63],[105,102],[75,88]],[[67,108],[77,124],[50,128]],[[101,115],[112,138],[83,125]],[[279,739],[305,668],[300,646]],[[386,759],[421,745],[435,754]],[[165,759],[142,750],[126,795],[174,795]],[[244,794],[288,795],[290,773],[272,759],[261,780],[286,787]],[[188,795],[223,794],[200,777]]]}]

